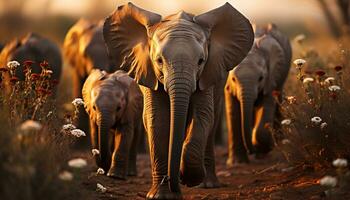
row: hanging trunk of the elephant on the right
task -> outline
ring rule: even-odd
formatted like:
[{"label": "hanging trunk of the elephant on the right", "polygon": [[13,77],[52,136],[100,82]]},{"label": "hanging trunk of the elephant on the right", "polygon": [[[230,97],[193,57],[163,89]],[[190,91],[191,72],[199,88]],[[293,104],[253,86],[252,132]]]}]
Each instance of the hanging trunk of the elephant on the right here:
[{"label": "hanging trunk of the elephant on the right", "polygon": [[254,92],[250,90],[243,90],[241,95],[241,134],[245,148],[249,151],[249,153],[253,153],[254,147],[252,143],[252,132],[254,120]]}]

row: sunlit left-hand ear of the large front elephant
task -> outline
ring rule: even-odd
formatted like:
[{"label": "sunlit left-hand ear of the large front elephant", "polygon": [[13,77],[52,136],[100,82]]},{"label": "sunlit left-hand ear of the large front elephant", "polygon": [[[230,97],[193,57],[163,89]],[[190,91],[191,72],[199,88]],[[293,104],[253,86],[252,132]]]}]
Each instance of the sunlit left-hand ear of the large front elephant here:
[{"label": "sunlit left-hand ear of the large front elephant", "polygon": [[149,57],[148,30],[160,20],[160,15],[128,3],[107,17],[103,27],[111,64],[154,90],[158,81]]}]

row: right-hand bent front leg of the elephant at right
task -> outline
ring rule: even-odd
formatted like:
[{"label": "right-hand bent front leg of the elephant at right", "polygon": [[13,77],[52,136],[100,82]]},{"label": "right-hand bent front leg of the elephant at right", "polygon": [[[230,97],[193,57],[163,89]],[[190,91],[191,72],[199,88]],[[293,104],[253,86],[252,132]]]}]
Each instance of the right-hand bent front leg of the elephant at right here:
[{"label": "right-hand bent front leg of the elephant at right", "polygon": [[256,111],[255,127],[252,142],[256,149],[256,157],[264,157],[273,146],[272,136],[265,124],[273,125],[276,103],[272,96],[264,98],[263,105]]}]

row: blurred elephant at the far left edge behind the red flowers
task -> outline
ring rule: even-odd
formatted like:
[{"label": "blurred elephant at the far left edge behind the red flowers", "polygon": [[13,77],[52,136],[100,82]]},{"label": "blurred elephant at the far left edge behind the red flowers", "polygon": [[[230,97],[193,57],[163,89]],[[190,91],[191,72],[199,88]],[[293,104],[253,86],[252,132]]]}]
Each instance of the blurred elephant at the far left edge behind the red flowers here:
[{"label": "blurred elephant at the far left edge behind the red flowers", "polygon": [[62,56],[59,47],[54,42],[36,33],[29,33],[23,38],[15,39],[4,46],[0,53],[0,67],[6,66],[7,62],[12,60],[16,60],[21,64],[16,70],[16,76],[20,80],[24,80],[23,62],[27,60],[34,61],[32,73],[41,73],[40,63],[47,61],[53,71],[50,79],[57,81],[60,79]]}]

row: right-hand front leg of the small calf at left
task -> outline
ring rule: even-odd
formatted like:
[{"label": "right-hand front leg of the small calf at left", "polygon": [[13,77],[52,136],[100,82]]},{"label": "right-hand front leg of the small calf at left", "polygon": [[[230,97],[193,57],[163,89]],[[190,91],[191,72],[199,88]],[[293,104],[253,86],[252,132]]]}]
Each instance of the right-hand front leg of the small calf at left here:
[{"label": "right-hand front leg of the small calf at left", "polygon": [[112,154],[111,167],[107,176],[126,179],[128,172],[129,150],[134,134],[132,123],[120,127],[114,136],[114,151]]}]

